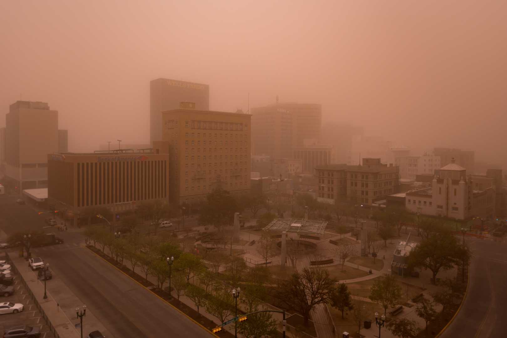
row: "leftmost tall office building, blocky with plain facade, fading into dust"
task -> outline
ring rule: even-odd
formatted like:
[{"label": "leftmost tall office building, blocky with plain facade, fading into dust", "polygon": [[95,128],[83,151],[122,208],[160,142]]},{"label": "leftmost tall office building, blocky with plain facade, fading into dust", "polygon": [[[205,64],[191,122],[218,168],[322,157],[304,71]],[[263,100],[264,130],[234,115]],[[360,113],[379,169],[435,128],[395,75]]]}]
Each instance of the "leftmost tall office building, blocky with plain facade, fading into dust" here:
[{"label": "leftmost tall office building, blocky with plain facade, fading into dust", "polygon": [[48,154],[58,151],[58,111],[17,101],[6,115],[5,175],[19,193],[48,186]]}]

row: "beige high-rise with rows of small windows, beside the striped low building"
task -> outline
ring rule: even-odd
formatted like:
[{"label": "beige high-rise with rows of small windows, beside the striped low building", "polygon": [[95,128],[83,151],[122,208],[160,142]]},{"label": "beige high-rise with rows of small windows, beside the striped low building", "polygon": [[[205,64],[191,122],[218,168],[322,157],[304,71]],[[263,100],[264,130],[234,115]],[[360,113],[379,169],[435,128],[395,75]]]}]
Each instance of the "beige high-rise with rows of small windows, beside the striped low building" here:
[{"label": "beige high-rise with rows of small windows, beside the striped low building", "polygon": [[191,102],[162,112],[163,142],[154,152],[169,152],[169,198],[194,204],[215,187],[234,195],[250,190],[250,118],[232,112],[198,110]]}]

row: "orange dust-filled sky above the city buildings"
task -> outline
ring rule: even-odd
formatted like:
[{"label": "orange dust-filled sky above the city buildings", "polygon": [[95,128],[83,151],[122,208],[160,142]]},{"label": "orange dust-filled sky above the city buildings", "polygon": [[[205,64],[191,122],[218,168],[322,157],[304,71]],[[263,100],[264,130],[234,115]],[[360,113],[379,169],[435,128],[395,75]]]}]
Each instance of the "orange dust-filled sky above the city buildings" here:
[{"label": "orange dust-filled sky above the city buildings", "polygon": [[[149,83],[210,86],[210,109],[322,104],[323,123],[506,163],[507,5],[426,2],[0,4],[0,126],[48,102],[71,151],[149,141]],[[249,100],[248,100],[249,98]],[[417,154],[416,154],[417,155]]]}]

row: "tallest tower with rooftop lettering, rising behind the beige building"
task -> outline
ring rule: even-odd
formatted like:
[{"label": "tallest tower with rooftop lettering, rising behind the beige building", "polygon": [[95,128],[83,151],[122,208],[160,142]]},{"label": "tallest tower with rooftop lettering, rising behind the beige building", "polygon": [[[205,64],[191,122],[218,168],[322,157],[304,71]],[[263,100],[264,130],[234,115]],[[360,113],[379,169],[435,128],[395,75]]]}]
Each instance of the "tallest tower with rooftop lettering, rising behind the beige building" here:
[{"label": "tallest tower with rooftop lettering, rising behind the beige building", "polygon": [[178,109],[179,102],[194,102],[209,110],[209,85],[170,79],[150,81],[150,144],[162,140],[162,111]]}]

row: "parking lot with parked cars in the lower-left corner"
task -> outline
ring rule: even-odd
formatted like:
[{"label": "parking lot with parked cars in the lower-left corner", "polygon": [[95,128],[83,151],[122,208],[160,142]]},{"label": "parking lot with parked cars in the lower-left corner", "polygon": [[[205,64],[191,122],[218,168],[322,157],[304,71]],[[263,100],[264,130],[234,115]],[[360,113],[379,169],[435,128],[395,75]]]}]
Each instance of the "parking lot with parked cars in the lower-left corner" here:
[{"label": "parking lot with parked cars in the lower-left corner", "polygon": [[22,312],[9,313],[0,315],[0,333],[3,334],[5,329],[18,325],[29,325],[34,327],[41,327],[41,338],[54,338],[53,333],[50,331],[48,325],[37,306],[33,303],[30,295],[28,294],[25,286],[20,281],[19,276],[13,274],[15,277],[14,294],[8,297],[0,296],[0,303],[12,302],[21,303],[24,306]]}]

